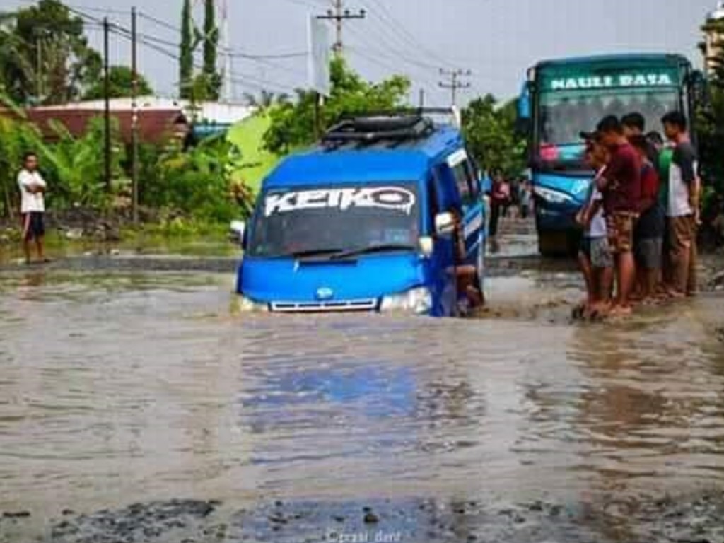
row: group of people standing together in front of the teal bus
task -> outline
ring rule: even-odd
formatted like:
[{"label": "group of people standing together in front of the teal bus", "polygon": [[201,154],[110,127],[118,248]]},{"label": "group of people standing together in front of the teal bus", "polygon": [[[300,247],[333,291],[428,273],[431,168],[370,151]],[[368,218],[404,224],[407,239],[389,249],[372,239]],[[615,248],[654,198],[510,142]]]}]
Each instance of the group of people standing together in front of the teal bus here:
[{"label": "group of people standing together in front of the teal bus", "polygon": [[696,292],[696,231],[701,181],[686,117],[662,118],[665,137],[631,113],[582,132],[596,173],[576,216],[588,295],[585,316],[631,313],[634,303]]}]

